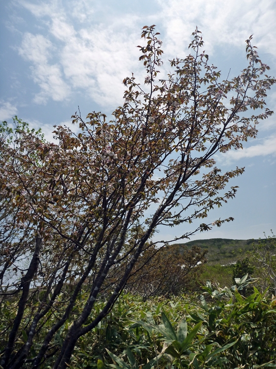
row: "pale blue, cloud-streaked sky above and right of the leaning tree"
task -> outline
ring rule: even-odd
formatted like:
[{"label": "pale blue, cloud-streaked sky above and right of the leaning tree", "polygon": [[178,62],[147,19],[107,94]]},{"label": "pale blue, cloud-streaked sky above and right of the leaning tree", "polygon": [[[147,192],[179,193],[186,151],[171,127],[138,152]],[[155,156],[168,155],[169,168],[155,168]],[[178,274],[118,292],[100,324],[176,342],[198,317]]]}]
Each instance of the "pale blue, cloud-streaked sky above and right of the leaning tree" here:
[{"label": "pale blue, cloud-streaked sky above and right of the leaning tree", "polygon": [[[245,40],[253,34],[262,61],[276,76],[276,2],[274,0],[9,0],[0,4],[0,121],[17,115],[41,127],[52,140],[54,124],[70,124],[102,111],[110,116],[122,103],[125,77],[144,81],[138,61],[141,28],[156,25],[168,60],[185,57],[196,26],[205,51],[222,77],[246,67]],[[230,71],[230,72],[229,72]],[[276,111],[276,87],[267,105]],[[245,166],[230,183],[234,200],[209,213],[207,221],[233,216],[234,222],[198,233],[206,238],[258,239],[276,233],[276,116],[258,126],[257,139],[243,150],[217,157],[222,171]],[[191,226],[162,228],[169,240]]]}]

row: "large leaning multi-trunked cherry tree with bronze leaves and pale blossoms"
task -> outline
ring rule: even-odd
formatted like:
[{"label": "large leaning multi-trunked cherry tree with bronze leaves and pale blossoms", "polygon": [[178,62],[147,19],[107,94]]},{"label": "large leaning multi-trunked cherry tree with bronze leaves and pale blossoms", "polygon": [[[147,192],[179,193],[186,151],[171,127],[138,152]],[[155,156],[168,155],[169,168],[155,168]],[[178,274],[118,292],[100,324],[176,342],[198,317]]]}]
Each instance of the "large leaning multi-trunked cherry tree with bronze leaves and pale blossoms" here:
[{"label": "large leaning multi-trunked cherry tree with bronze leaves and pale blossoms", "polygon": [[[173,73],[158,80],[157,35],[143,28],[144,87],[134,76],[123,81],[124,104],[112,121],[75,113],[80,133],[58,126],[56,143],[17,119],[13,131],[0,127],[4,369],[68,368],[77,340],[108,314],[138,260],[158,244],[158,227],[205,219],[235,197],[236,187],[221,191],[244,169],[221,173],[213,157],[256,136],[255,124],[273,113],[260,109],[276,81],[251,37],[248,67],[221,81],[198,30],[192,54],[173,59]],[[230,220],[201,223],[178,239]]]}]

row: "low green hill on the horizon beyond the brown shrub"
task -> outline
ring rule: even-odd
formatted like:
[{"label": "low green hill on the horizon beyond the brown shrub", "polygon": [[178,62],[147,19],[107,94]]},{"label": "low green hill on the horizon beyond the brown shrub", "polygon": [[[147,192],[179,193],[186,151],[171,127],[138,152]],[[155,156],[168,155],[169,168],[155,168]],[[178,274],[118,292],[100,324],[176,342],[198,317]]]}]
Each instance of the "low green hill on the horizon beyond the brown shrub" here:
[{"label": "low green hill on the horizon beyond the brown shrub", "polygon": [[[189,241],[185,244],[176,244],[181,246],[199,246],[207,249],[208,264],[230,264],[237,261],[238,258],[246,256],[246,251],[253,250],[254,244],[257,245],[260,240],[231,240],[225,238],[211,238],[208,240]],[[262,239],[266,242],[266,239]]]}]

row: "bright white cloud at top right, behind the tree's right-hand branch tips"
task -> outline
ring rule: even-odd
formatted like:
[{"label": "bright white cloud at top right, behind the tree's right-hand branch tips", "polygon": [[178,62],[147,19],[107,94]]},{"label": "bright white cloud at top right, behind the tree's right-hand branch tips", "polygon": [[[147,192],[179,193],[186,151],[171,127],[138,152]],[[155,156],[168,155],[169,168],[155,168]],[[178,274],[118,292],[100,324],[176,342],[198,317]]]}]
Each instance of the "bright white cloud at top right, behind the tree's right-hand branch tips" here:
[{"label": "bright white cloud at top right, behind the tree's right-hand branch tips", "polygon": [[254,43],[276,56],[276,8],[273,0],[194,0],[192,5],[179,0],[158,2],[163,8],[160,18],[166,27],[172,53],[177,52],[180,45],[187,49],[190,33],[198,26],[208,52],[219,44],[241,47],[254,34]]}]

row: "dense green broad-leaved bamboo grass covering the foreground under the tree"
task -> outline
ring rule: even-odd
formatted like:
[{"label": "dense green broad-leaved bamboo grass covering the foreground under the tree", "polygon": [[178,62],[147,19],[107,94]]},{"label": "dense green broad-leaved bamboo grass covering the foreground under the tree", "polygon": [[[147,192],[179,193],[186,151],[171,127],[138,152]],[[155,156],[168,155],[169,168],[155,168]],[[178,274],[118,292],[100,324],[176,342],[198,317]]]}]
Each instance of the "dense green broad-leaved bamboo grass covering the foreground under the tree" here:
[{"label": "dense green broad-leaved bamboo grass covering the foreground under the tree", "polygon": [[[154,297],[145,302],[131,294],[120,296],[112,312],[77,342],[70,368],[276,368],[276,300],[255,287],[245,298],[240,291],[253,281],[245,276],[237,282],[223,289],[207,282],[200,296]],[[1,342],[16,304],[11,299],[1,306]],[[74,313],[82,304],[79,300]],[[37,348],[54,322],[48,318]],[[56,334],[53,355],[45,358],[41,369],[52,368],[70,324],[69,320]],[[22,332],[17,345],[26,338]],[[35,351],[30,352],[28,360],[34,355]]]}]

